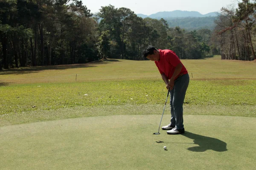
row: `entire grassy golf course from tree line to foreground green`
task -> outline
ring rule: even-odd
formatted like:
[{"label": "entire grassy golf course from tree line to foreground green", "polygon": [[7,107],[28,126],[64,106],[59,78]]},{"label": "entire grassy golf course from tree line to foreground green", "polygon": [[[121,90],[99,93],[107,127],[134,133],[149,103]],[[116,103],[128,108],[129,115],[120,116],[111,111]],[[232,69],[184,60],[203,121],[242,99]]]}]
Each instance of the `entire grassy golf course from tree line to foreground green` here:
[{"label": "entire grassy golf course from tree line to foreground green", "polygon": [[0,170],[256,170],[256,62],[181,61],[179,135],[152,61],[1,70]]}]

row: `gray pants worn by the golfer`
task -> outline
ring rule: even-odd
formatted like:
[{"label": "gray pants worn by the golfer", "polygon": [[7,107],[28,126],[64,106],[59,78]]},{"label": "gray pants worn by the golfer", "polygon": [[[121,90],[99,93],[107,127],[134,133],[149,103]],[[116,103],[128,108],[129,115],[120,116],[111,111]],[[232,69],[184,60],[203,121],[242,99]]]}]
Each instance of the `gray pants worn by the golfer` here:
[{"label": "gray pants worn by the golfer", "polygon": [[186,90],[189,86],[189,74],[178,77],[174,82],[174,87],[170,91],[171,105],[171,125],[177,129],[183,129],[183,102]]}]

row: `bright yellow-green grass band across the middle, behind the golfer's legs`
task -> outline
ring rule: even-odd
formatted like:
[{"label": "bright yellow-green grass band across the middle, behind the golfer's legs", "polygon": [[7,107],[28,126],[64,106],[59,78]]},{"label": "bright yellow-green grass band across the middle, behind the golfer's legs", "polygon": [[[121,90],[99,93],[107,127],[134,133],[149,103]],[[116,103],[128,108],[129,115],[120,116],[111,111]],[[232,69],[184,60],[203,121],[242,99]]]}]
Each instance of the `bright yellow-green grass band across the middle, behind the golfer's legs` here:
[{"label": "bright yellow-green grass band across the middle, behind the golfer's legs", "polygon": [[[256,105],[255,89],[256,80],[191,80],[184,102],[188,105]],[[0,98],[4,99],[0,101],[0,113],[75,106],[154,105],[164,102],[166,92],[162,80],[11,85],[0,88]]]}]

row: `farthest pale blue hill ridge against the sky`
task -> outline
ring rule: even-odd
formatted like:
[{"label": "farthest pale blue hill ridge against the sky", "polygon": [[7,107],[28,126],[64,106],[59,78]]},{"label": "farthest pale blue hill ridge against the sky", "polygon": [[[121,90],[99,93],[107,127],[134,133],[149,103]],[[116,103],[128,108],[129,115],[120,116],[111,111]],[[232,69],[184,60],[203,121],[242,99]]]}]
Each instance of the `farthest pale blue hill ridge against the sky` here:
[{"label": "farthest pale blue hill ridge against the sky", "polygon": [[201,14],[197,11],[163,11],[163,12],[157,12],[156,14],[151,15],[144,15],[144,14],[137,14],[138,17],[146,18],[169,18],[169,17],[217,17],[218,12],[211,12],[208,14]]}]

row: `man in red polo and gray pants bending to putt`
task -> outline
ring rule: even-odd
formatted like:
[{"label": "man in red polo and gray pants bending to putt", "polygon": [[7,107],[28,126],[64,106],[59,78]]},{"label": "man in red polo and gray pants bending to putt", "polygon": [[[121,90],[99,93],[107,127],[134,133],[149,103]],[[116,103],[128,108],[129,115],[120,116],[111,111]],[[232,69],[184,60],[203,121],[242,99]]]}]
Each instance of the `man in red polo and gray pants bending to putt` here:
[{"label": "man in red polo and gray pants bending to putt", "polygon": [[170,90],[171,123],[162,129],[168,130],[167,134],[184,133],[183,102],[189,85],[188,71],[171,50],[157,50],[148,46],[144,50],[144,57],[155,62],[166,88]]}]

